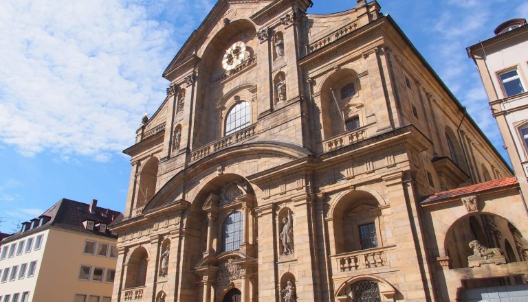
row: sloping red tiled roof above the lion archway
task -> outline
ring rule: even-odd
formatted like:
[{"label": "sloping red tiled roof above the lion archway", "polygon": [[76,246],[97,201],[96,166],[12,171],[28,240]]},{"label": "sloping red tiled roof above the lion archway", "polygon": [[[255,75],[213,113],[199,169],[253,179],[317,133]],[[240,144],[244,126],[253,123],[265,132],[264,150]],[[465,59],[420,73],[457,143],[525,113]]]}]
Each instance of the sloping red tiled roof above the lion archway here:
[{"label": "sloping red tiled roof above the lion archway", "polygon": [[495,179],[493,181],[486,181],[485,183],[477,183],[475,185],[468,185],[467,187],[459,187],[449,191],[441,191],[437,194],[429,196],[426,200],[423,200],[421,203],[430,203],[439,200],[451,199],[458,196],[476,194],[491,189],[510,187],[512,185],[518,185],[518,181],[515,176]]}]

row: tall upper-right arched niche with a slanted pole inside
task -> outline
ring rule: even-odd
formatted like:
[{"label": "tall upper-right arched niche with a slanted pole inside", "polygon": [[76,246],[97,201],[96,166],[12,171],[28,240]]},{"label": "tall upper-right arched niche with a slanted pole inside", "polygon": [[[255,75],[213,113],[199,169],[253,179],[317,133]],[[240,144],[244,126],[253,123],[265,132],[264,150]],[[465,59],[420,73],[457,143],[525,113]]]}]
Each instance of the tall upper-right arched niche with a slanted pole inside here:
[{"label": "tall upper-right arched niche with a slanted pole inside", "polygon": [[319,102],[323,139],[366,124],[361,89],[358,72],[353,69],[342,68],[325,78]]}]

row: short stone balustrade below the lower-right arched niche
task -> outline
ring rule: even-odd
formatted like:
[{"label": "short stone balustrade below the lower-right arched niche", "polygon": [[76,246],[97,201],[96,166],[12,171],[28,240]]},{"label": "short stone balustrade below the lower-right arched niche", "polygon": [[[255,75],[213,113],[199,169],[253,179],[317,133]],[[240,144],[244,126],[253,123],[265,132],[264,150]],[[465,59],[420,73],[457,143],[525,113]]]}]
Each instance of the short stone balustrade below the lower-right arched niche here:
[{"label": "short stone balustrade below the lower-right arched niche", "polygon": [[379,268],[388,266],[387,252],[395,246],[382,246],[379,248],[369,248],[364,251],[354,251],[331,256],[338,272],[348,272],[351,270],[363,270],[367,268]]}]

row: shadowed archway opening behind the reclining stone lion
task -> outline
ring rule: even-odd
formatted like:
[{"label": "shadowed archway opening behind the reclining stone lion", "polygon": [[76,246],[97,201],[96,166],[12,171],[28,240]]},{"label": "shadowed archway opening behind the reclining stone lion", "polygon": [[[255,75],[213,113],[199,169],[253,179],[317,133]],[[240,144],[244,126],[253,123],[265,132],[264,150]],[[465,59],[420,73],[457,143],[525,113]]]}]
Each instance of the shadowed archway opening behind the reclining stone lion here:
[{"label": "shadowed archway opening behind the reclining stone lion", "polygon": [[[525,239],[520,236],[520,232],[507,219],[491,214],[476,213],[463,216],[452,224],[445,235],[445,255],[450,257],[451,268],[467,268],[468,259],[473,255],[473,250],[468,246],[470,242],[477,240],[486,248],[500,248],[506,253],[507,246],[505,242],[522,242]],[[512,248],[513,250],[513,248]],[[521,255],[518,251],[511,251],[510,261],[518,261]],[[511,257],[515,256],[515,257]]]}]

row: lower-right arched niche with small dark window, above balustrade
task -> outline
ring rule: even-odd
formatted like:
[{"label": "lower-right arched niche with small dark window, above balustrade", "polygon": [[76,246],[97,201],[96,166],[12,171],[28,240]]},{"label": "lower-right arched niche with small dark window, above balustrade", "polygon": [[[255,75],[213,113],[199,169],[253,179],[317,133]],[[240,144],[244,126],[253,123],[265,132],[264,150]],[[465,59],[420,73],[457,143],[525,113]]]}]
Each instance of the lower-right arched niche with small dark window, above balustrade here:
[{"label": "lower-right arched niche with small dark window, above balustrade", "polygon": [[333,253],[348,253],[384,245],[380,201],[367,191],[349,191],[331,205],[329,229]]}]

